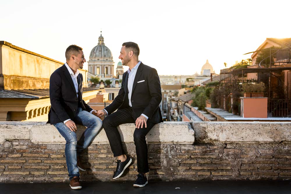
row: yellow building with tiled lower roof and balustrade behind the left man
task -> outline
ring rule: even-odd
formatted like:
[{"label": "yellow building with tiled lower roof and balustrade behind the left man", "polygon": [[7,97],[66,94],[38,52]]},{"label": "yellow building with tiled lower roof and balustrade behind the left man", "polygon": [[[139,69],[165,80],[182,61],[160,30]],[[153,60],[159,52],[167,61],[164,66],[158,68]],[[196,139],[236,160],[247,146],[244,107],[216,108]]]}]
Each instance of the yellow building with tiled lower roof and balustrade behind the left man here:
[{"label": "yellow building with tiled lower roof and balustrade behind the left man", "polygon": [[[0,41],[0,121],[47,121],[50,75],[64,63]],[[95,98],[83,75],[83,99]],[[70,87],[70,86],[69,86]]]}]

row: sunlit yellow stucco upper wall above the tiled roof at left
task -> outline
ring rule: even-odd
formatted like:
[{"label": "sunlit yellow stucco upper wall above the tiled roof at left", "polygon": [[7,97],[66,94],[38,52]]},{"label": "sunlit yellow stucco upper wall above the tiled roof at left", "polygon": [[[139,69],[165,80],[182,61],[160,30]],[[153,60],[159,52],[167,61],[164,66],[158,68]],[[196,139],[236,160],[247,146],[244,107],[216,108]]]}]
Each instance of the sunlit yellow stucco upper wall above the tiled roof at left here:
[{"label": "sunlit yellow stucco upper wall above the tiled roof at left", "polygon": [[[44,89],[49,88],[49,77],[64,63],[0,41],[0,88]],[[87,87],[86,70],[83,75],[84,87]]]}]

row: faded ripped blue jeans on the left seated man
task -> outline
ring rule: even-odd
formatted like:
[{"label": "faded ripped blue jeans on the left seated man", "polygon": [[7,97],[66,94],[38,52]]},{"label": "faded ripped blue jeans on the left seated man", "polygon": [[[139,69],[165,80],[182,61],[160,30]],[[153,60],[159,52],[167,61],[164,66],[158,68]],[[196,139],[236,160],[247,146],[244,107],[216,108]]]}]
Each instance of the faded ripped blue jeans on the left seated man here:
[{"label": "faded ripped blue jeans on the left seated man", "polygon": [[65,156],[70,180],[75,176],[80,176],[77,167],[77,156],[81,155],[102,128],[102,120],[87,111],[83,111],[82,108],[78,108],[73,121],[76,124],[87,127],[78,141],[77,134],[71,131],[63,122],[54,124],[66,140]]}]

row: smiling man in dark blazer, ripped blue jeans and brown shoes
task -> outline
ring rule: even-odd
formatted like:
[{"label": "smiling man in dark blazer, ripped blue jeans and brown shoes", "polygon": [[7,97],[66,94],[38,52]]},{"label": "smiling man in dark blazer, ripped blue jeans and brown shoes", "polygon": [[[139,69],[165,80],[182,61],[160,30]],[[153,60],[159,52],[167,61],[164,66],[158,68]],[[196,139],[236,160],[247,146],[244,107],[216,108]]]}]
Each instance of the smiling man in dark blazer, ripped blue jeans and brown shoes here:
[{"label": "smiling man in dark blazer, ripped blue jeans and brown shoes", "polygon": [[[83,76],[78,69],[83,68],[82,48],[70,45],[66,52],[66,63],[55,70],[49,79],[51,108],[48,122],[53,124],[65,138],[65,156],[70,177],[70,187],[81,189],[79,170],[86,171],[81,163],[82,151],[88,147],[102,127],[102,121],[82,99]],[[77,126],[87,127],[77,141]]]}]

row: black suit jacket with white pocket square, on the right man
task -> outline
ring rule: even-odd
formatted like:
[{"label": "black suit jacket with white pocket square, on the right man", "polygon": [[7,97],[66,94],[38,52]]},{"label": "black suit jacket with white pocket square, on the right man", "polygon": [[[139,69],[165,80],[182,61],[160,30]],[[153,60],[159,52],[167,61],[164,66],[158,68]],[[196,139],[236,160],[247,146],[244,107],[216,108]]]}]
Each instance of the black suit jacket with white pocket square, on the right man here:
[{"label": "black suit jacket with white pocket square, on the right man", "polygon": [[[111,104],[104,108],[108,114],[113,113],[118,108],[125,108],[129,106],[127,81],[128,72],[126,71],[122,76],[121,88],[118,95]],[[145,114],[148,116],[149,122],[163,122],[159,107],[161,101],[161,83],[157,70],[141,63],[136,71],[132,87],[131,103],[134,119],[136,120],[141,114]]]}]

